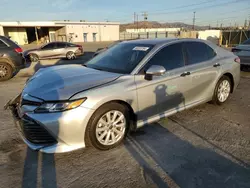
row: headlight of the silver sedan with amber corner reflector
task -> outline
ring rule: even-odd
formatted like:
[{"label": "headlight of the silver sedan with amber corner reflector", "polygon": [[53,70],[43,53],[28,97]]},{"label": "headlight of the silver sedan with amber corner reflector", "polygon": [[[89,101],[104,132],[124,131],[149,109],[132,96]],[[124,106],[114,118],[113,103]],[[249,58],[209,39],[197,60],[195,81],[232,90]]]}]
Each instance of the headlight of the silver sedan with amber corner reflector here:
[{"label": "headlight of the silver sedan with amber corner reflector", "polygon": [[65,110],[70,110],[80,106],[87,98],[79,99],[76,101],[58,102],[58,103],[44,103],[39,106],[35,112],[61,112]]}]

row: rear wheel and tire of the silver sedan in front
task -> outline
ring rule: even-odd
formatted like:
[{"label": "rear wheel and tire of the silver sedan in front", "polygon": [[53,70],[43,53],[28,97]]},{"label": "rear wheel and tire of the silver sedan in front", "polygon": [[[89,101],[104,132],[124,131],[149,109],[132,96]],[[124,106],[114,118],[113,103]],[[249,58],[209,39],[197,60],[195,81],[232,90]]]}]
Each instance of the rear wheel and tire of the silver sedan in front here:
[{"label": "rear wheel and tire of the silver sedan in front", "polygon": [[231,80],[227,76],[222,76],[216,84],[212,102],[217,105],[222,105],[228,100],[231,90]]}]

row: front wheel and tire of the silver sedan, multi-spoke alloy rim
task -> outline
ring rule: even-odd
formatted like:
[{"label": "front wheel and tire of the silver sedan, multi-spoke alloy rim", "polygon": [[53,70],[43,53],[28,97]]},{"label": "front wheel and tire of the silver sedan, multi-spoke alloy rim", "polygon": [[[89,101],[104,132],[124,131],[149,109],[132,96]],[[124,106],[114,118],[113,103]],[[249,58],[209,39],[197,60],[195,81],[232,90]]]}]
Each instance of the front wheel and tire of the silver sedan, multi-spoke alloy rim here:
[{"label": "front wheel and tire of the silver sedan, multi-spoke alloy rim", "polygon": [[[116,114],[115,120],[111,121],[113,124],[109,124],[107,121],[108,113],[110,113],[111,120]],[[119,121],[119,118],[122,120]],[[106,125],[102,123],[103,121],[106,122]],[[118,121],[118,123],[115,124],[116,121]],[[129,130],[129,122],[129,111],[125,106],[119,103],[109,103],[102,106],[89,120],[85,133],[86,145],[93,146],[99,150],[109,150],[120,145]],[[124,126],[122,126],[123,124]],[[119,125],[119,127],[116,127],[117,125]],[[97,130],[98,128],[100,131]],[[117,131],[119,134],[117,134]],[[109,138],[107,139],[108,136]],[[108,140],[108,142],[106,140]]]}]

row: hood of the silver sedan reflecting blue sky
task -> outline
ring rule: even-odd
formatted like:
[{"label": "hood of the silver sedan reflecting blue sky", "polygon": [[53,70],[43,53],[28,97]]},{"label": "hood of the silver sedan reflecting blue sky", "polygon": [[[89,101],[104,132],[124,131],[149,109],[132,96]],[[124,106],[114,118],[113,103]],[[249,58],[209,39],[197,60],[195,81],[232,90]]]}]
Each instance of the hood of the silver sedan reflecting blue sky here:
[{"label": "hood of the silver sedan reflecting blue sky", "polygon": [[74,94],[114,81],[121,74],[61,65],[40,69],[27,82],[23,94],[45,101],[68,100]]}]

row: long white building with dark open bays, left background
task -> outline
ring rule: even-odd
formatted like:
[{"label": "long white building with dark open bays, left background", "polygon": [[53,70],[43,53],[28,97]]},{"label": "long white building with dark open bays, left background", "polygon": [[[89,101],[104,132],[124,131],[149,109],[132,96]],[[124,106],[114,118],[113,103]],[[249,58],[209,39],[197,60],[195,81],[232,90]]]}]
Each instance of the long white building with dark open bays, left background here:
[{"label": "long white building with dark open bays, left background", "polygon": [[18,44],[47,41],[93,42],[119,40],[117,22],[0,22],[0,35]]}]

